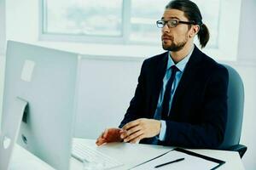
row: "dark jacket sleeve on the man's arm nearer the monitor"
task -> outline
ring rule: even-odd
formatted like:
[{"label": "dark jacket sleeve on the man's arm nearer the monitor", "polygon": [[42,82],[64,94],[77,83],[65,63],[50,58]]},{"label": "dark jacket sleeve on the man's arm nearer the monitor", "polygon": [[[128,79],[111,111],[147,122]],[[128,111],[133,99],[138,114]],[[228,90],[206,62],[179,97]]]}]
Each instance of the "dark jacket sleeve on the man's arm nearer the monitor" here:
[{"label": "dark jacket sleeve on the man's arm nearer the monitor", "polygon": [[143,103],[144,103],[144,93],[145,93],[145,64],[146,60],[143,61],[140,75],[138,77],[137,88],[134,97],[131,99],[130,106],[128,107],[125,117],[120,123],[119,127],[123,127],[127,122],[134,121],[138,118],[143,117]]}]

